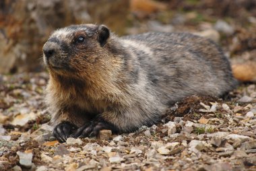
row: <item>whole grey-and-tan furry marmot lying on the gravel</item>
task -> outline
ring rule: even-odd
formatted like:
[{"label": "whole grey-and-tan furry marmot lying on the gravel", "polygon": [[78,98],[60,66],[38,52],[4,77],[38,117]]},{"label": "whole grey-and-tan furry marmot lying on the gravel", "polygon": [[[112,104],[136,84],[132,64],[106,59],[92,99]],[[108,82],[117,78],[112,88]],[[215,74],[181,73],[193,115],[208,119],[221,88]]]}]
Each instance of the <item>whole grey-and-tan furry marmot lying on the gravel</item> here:
[{"label": "whole grey-and-tan furry marmot lying on the gravel", "polygon": [[104,25],[82,24],[53,32],[43,53],[46,103],[61,142],[101,129],[129,133],[158,123],[187,96],[222,96],[236,86],[220,47],[189,33],[119,38]]}]

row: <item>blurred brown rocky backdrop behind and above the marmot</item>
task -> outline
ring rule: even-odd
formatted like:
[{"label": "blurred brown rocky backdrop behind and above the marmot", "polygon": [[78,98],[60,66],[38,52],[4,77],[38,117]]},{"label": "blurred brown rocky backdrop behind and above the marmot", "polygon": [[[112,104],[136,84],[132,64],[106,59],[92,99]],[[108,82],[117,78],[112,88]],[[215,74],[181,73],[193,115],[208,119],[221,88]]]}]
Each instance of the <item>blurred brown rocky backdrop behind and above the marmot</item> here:
[{"label": "blurred brown rocky backdrop behind and above the marmot", "polygon": [[255,0],[1,0],[0,73],[42,71],[42,45],[71,24],[118,35],[193,32],[224,47],[232,63],[256,61]]}]

